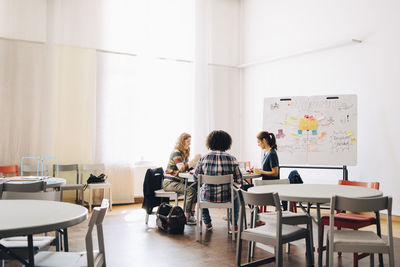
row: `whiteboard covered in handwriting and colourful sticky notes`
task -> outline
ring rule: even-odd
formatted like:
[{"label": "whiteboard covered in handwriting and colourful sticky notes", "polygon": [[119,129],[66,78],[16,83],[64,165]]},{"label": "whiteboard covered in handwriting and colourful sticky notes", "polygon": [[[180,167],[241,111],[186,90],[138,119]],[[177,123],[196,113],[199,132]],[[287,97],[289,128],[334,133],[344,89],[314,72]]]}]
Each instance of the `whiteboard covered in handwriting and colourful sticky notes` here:
[{"label": "whiteboard covered in handwriting and colourful sticky notes", "polygon": [[357,95],[265,98],[263,129],[280,164],[357,164]]}]

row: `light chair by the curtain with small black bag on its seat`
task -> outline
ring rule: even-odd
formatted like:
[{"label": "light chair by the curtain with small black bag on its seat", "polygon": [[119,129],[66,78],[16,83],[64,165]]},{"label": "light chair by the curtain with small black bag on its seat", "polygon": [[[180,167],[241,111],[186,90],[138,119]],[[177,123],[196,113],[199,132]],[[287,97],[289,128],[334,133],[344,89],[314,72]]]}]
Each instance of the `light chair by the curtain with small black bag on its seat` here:
[{"label": "light chair by the curtain with small black bag on its seat", "polygon": [[[81,182],[84,181],[83,175],[85,171],[91,171],[95,175],[99,175],[104,172],[104,164],[81,164]],[[108,189],[108,198],[110,200],[110,210],[112,210],[112,185],[109,182],[104,183],[95,183],[95,184],[87,184],[87,189],[89,190],[89,212],[92,211],[92,203],[93,203],[93,190],[103,189],[105,194],[106,189]]]}]

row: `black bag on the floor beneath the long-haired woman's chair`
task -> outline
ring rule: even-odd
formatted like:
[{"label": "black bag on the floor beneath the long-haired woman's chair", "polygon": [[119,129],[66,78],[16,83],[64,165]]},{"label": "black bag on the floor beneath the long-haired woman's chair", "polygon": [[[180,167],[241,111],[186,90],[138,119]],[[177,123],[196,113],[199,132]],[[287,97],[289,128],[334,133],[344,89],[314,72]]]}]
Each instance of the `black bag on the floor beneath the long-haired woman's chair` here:
[{"label": "black bag on the floor beneath the long-haired woman's chair", "polygon": [[186,217],[181,207],[161,203],[157,210],[156,222],[158,228],[168,234],[183,234]]}]

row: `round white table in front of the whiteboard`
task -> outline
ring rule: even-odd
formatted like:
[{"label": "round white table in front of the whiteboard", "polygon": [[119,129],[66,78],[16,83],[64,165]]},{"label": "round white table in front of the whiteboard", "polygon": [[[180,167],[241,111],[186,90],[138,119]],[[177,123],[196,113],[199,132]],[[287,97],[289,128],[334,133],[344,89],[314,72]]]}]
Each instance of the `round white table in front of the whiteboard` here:
[{"label": "round white table in front of the whiteboard", "polygon": [[331,184],[278,184],[263,185],[249,188],[253,193],[277,192],[281,200],[294,202],[315,203],[317,206],[318,226],[318,265],[322,266],[322,227],[321,227],[321,204],[330,203],[331,197],[335,195],[354,198],[370,198],[382,196],[382,192],[376,189]]}]

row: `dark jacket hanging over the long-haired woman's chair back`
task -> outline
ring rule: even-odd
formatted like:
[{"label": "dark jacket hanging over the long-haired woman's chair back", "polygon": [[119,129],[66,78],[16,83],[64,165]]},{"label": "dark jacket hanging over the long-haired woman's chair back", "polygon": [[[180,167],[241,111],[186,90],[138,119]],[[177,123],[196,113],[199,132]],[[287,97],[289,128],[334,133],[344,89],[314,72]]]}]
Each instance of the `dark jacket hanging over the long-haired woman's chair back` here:
[{"label": "dark jacket hanging over the long-haired woman's chair back", "polygon": [[157,207],[161,202],[168,202],[168,198],[160,198],[154,196],[154,191],[162,188],[164,179],[164,170],[160,168],[148,169],[143,182],[143,204],[142,208],[147,214],[151,214],[154,207]]}]

